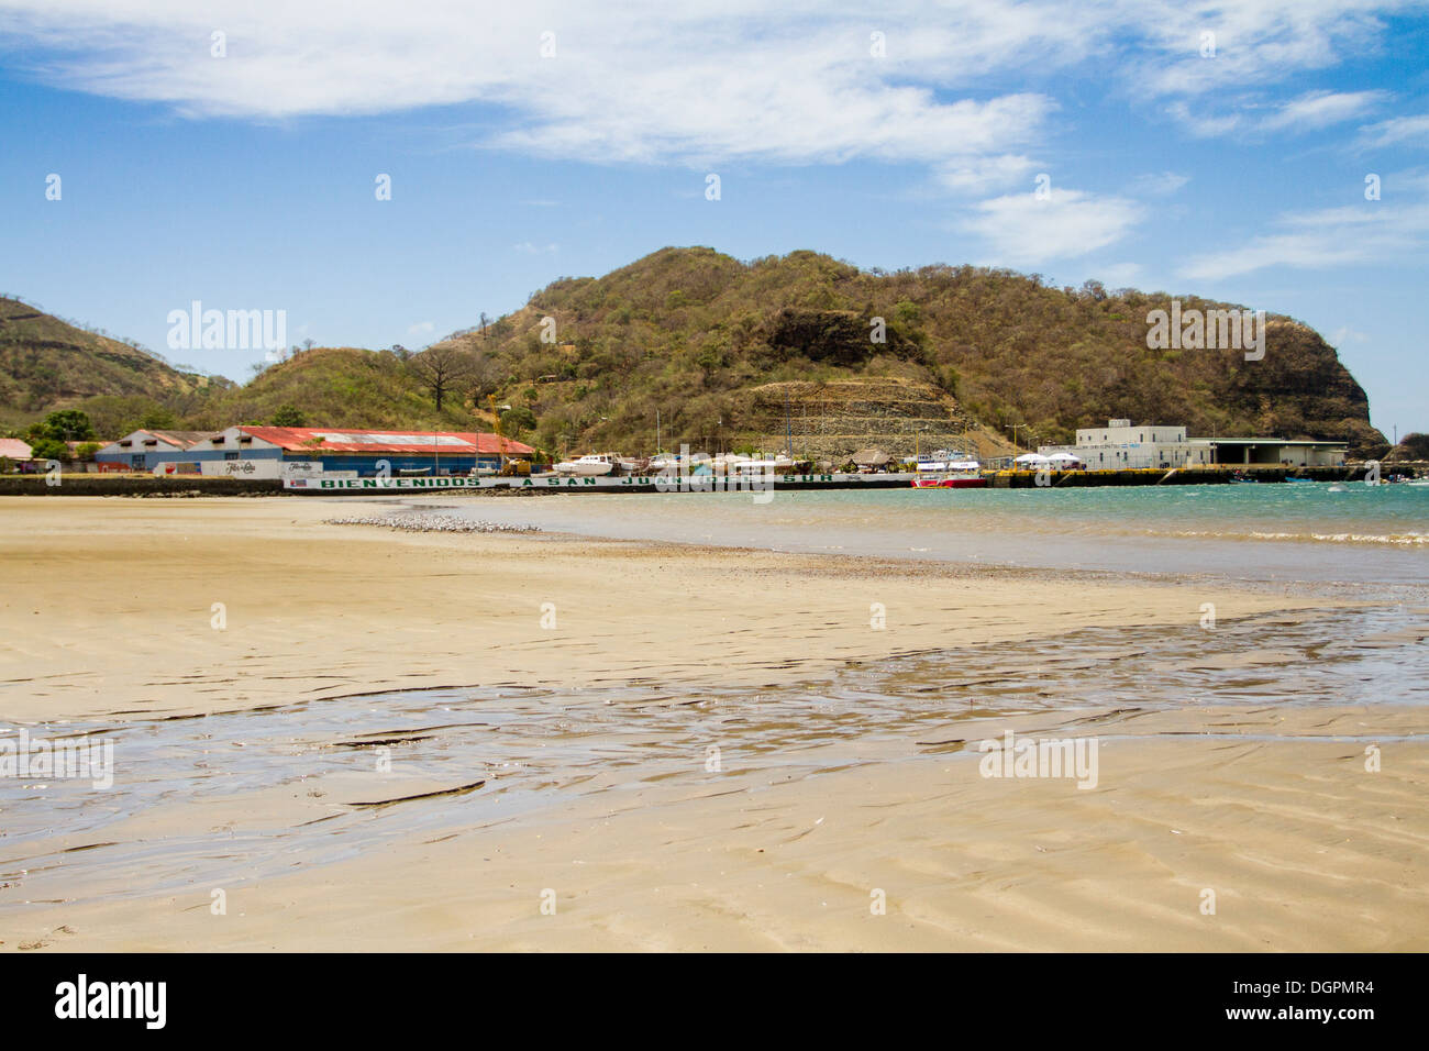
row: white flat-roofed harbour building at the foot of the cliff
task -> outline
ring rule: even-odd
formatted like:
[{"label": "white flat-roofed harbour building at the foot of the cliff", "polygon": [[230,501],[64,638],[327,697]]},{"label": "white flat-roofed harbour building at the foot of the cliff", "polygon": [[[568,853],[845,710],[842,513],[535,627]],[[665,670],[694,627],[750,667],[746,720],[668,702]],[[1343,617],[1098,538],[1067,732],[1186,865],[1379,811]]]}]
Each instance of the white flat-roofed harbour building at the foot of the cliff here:
[{"label": "white flat-roofed harbour building at the foot of the cliff", "polygon": [[1043,445],[1043,456],[1070,453],[1087,470],[1189,466],[1340,466],[1345,442],[1282,438],[1186,438],[1186,428],[1165,423],[1107,420],[1105,428],[1079,428],[1076,445]]}]

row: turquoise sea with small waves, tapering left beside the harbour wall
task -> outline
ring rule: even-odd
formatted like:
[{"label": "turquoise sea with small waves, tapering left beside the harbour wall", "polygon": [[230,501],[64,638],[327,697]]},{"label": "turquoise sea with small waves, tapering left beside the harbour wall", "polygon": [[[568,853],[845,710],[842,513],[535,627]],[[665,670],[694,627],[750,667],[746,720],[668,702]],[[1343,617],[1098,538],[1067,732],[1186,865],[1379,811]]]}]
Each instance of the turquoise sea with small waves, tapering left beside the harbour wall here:
[{"label": "turquoise sea with small waves, tapering left beside the harbour wall", "polygon": [[879,489],[474,498],[462,513],[589,536],[1233,581],[1429,582],[1429,486]]}]

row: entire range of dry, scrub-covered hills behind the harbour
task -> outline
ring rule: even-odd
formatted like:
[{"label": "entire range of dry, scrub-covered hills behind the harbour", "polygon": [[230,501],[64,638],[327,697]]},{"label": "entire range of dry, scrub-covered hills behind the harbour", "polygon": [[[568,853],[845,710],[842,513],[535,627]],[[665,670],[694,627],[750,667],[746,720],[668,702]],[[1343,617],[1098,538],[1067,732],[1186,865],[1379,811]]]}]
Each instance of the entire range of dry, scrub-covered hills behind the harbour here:
[{"label": "entire range of dry, scrub-covered hills behind the harbour", "polygon": [[[107,438],[137,420],[470,429],[492,426],[494,405],[507,433],[557,453],[652,452],[659,428],[664,448],[787,443],[843,456],[966,443],[989,456],[1013,433],[1022,448],[1070,442],[1119,416],[1192,435],[1348,440],[1360,455],[1388,448],[1316,332],[1272,315],[1258,362],[1235,349],[1147,349],[1147,312],[1170,299],[972,266],[885,273],[815,252],[743,263],[672,247],[603,277],[556,280],[422,353],[294,349],[242,388],[204,386],[0,300],[0,423],[80,408]],[[1236,306],[1179,299],[1183,310]]]}]

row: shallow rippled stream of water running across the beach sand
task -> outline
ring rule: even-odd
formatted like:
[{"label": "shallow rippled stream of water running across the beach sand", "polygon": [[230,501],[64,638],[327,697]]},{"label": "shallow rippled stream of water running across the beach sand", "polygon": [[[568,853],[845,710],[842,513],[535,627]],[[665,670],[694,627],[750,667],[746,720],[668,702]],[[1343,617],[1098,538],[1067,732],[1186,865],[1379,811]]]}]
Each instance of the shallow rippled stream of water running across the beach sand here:
[{"label": "shallow rippled stream of water running across the beach sand", "polygon": [[[1142,732],[1137,715],[1186,705],[1423,706],[1426,635],[1429,611],[1310,611],[1209,631],[1085,629],[1030,653],[1027,645],[950,648],[780,689],[470,688],[36,726],[31,736],[111,738],[114,786],[0,779],[0,884],[19,891],[0,915],[24,901],[231,888],[380,849],[399,835],[497,827],[572,795],[610,794],[616,805],[639,785],[709,786],[719,776],[706,769],[712,746],[725,771],[797,778],[962,751],[1000,734],[1012,715],[1046,715],[1047,732],[1097,719],[1099,735],[1126,736]],[[1275,734],[1273,721],[1256,732]],[[380,748],[397,774],[486,784],[464,795],[349,805],[384,798]],[[276,785],[307,799],[300,818],[274,811],[276,824],[214,827],[224,801]],[[143,824],[169,804],[179,809],[164,832]]]}]

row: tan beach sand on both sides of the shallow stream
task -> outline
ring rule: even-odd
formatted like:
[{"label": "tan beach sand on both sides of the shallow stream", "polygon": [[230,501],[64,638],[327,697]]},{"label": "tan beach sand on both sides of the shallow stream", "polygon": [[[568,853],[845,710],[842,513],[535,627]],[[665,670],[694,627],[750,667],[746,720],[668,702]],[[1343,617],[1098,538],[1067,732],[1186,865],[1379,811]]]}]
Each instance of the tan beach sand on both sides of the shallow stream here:
[{"label": "tan beach sand on both sides of the shallow stream", "polygon": [[[614,698],[602,718],[617,734],[643,711],[620,698],[659,686],[660,704],[757,722],[722,698],[817,691],[953,632],[1036,675],[1046,656],[1029,639],[1193,626],[1208,602],[1222,622],[1326,605],[1175,579],[323,522],[353,506],[0,500],[0,718],[59,732],[387,691],[579,688]],[[407,796],[462,779],[403,769],[399,749],[380,775],[166,798],[26,849],[0,835],[0,948],[1425,948],[1418,724],[1349,696],[1336,709],[932,709],[916,735],[803,742],[797,762],[730,746],[712,769],[692,738],[679,776],[594,766],[579,792],[486,806],[439,834],[402,829],[426,805]],[[1096,786],[980,776],[976,742],[1009,729],[1095,735]],[[1379,769],[1366,741],[1383,742]],[[396,831],[323,864],[244,838],[397,799],[382,811]],[[180,839],[230,849],[231,878],[144,889],[144,851]],[[66,864],[101,844],[114,864]],[[246,851],[264,855],[260,875]]]}]

